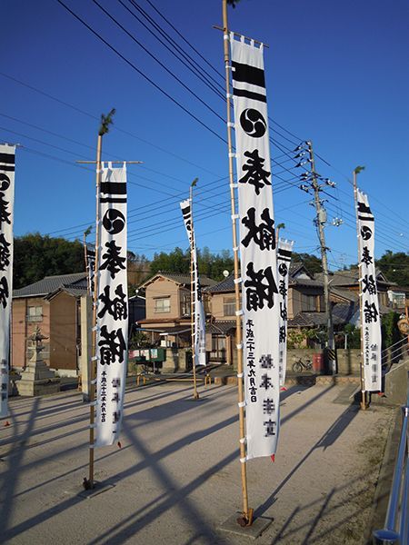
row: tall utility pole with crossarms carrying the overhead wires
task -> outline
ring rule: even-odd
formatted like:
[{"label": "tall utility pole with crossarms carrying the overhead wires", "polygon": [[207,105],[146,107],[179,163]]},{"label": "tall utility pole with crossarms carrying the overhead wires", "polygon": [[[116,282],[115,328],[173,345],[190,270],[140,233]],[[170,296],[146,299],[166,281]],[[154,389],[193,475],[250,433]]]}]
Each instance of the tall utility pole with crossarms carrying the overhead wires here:
[{"label": "tall utility pole with crossarms carrying the overhead wires", "polygon": [[328,260],[326,257],[327,247],[325,245],[325,233],[324,233],[324,223],[326,221],[325,211],[323,204],[320,199],[320,185],[317,182],[317,175],[315,172],[315,161],[314,161],[314,150],[313,143],[311,141],[306,143],[308,146],[308,153],[310,154],[310,163],[311,163],[311,174],[312,174],[312,186],[314,190],[314,204],[316,211],[316,227],[318,230],[318,238],[320,241],[321,247],[321,262],[323,263],[323,280],[324,280],[324,304],[325,304],[325,313],[326,313],[326,327],[328,332],[328,352],[329,360],[331,363],[331,372],[335,374],[336,372],[336,362],[334,355],[334,327],[333,327],[333,314],[331,309],[331,300],[330,300],[330,287],[329,287],[329,278],[328,278]]}]

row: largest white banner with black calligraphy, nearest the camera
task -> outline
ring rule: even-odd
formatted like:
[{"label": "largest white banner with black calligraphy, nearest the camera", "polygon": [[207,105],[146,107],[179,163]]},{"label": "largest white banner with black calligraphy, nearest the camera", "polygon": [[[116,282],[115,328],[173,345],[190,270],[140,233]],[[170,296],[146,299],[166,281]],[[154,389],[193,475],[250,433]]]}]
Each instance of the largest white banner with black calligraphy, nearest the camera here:
[{"label": "largest white banner with black calligraphy, nearest the camera", "polygon": [[230,35],[244,329],[247,459],[271,456],[280,426],[277,261],[263,46]]}]

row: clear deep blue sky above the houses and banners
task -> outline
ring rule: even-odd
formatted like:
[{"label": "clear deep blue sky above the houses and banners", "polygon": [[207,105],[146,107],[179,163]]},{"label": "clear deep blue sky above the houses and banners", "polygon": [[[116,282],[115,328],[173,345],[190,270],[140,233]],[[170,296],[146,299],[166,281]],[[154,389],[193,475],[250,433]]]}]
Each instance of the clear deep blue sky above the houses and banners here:
[{"label": "clear deep blue sky above the houses and banners", "polygon": [[[169,73],[93,0],[64,2],[215,134],[56,0],[5,0],[0,141],[22,145],[17,152],[15,234],[38,231],[82,238],[95,219],[95,175],[75,160],[95,158],[97,118],[115,107],[115,125],[104,140],[105,159],[144,162],[129,166],[129,249],[152,256],[187,246],[178,203],[195,177],[198,245],[214,252],[231,248],[226,129],[219,118],[225,116],[224,101],[126,11],[124,5],[149,25],[129,0],[122,0],[124,5],[98,2]],[[208,74],[201,72],[202,77],[224,94],[223,35],[213,28],[221,24],[221,1],[135,4],[193,57],[190,64],[205,68]],[[285,223],[284,236],[295,241],[295,251],[317,253],[318,242],[314,209],[309,195],[296,187],[298,172],[291,170],[289,150],[300,140],[312,140],[315,153],[324,159],[317,158],[317,171],[337,183],[336,189],[327,190],[331,196],[325,195],[328,219],[344,220],[342,226],[329,224],[326,229],[332,269],[356,261],[353,193],[347,178],[358,164],[366,167],[359,183],[375,213],[377,256],[387,249],[407,251],[408,15],[404,0],[241,0],[229,8],[232,30],[269,45],[264,64],[274,120],[272,156],[278,163],[272,164],[274,213],[277,223]]]}]

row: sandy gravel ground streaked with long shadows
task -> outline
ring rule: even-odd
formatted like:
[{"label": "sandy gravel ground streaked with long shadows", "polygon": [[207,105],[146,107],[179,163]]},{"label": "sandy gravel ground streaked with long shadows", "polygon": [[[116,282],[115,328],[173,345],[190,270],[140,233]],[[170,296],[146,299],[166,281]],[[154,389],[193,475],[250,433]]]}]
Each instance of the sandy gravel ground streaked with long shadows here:
[{"label": "sandy gravel ground streaked with long shadows", "polygon": [[[249,503],[273,519],[260,545],[364,543],[393,411],[334,402],[342,387],[284,392],[279,450],[247,464]],[[78,393],[12,399],[0,431],[0,542],[43,545],[237,544],[219,530],[241,509],[236,390],[156,384],[126,393],[122,448],[95,451],[87,475],[88,408]]]}]

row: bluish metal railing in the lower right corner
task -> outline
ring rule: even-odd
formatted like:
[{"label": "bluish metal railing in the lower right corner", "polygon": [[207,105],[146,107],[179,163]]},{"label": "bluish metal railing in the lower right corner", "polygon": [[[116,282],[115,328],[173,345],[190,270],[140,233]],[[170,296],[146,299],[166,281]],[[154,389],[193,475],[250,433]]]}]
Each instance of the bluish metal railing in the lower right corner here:
[{"label": "bluish metal railing in the lower right corner", "polygon": [[394,466],[394,479],[389,496],[388,510],[384,521],[384,529],[374,530],[374,545],[409,545],[409,391],[406,405],[402,407],[402,411],[402,431]]}]

